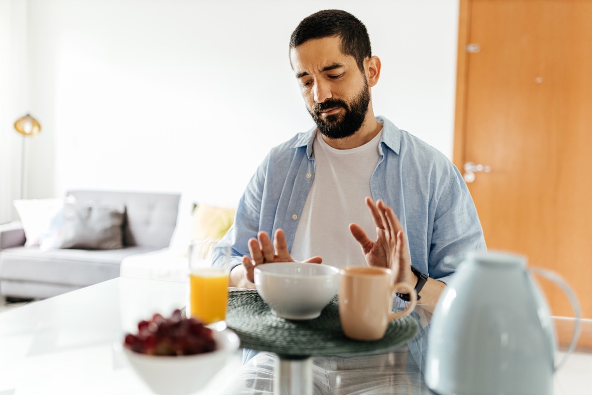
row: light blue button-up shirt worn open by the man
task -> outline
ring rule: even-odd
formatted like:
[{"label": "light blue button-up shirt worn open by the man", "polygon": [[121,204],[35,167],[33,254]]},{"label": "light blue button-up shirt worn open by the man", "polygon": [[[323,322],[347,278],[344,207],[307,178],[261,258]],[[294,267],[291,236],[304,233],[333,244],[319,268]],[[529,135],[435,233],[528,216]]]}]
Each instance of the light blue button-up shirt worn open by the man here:
[{"label": "light blue button-up shirt worn open by the man", "polygon": [[[377,120],[383,133],[380,158],[370,181],[372,198],[384,200],[397,214],[407,237],[411,265],[447,282],[455,268],[444,262],[445,256],[485,249],[471,194],[445,155],[386,118]],[[224,236],[232,245],[231,268],[241,264],[243,255],[250,256],[247,240],[260,230],[273,237],[276,229],[283,229],[291,250],[314,179],[315,133],[313,128],[274,147],[253,175],[234,224]],[[218,249],[214,266],[220,262]]]}]

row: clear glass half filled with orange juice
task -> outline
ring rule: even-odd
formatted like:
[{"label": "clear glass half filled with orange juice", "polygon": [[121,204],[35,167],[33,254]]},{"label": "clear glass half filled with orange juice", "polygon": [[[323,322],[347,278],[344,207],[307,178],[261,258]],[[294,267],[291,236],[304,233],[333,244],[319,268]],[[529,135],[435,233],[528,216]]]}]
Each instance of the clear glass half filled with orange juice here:
[{"label": "clear glass half filled with orange juice", "polygon": [[[214,246],[220,243],[221,267],[212,267]],[[220,239],[196,239],[189,245],[189,311],[205,325],[226,319],[230,245]]]}]

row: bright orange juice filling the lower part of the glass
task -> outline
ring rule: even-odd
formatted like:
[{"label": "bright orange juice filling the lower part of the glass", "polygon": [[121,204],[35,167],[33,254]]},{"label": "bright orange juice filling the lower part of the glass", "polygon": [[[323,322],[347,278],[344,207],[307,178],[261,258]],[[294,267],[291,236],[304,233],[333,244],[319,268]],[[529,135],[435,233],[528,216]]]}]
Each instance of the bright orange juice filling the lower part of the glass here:
[{"label": "bright orange juice filling the lower part of the glass", "polygon": [[205,325],[226,318],[228,272],[221,269],[197,269],[189,273],[191,316]]}]

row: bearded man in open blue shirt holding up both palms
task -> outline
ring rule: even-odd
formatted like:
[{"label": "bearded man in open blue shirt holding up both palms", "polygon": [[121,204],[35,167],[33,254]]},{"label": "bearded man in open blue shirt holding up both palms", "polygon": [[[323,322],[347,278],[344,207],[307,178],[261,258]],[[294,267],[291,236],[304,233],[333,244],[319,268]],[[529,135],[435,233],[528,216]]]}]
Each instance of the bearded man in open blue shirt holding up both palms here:
[{"label": "bearded man in open blue shirt holding up both palms", "polygon": [[224,236],[233,245],[230,285],[253,288],[253,268],[269,262],[367,264],[392,268],[422,303],[435,304],[453,272],[445,256],[485,248],[461,175],[442,153],[375,117],[381,62],[353,15],[310,15],[289,48],[316,127],[272,149],[247,185]]}]

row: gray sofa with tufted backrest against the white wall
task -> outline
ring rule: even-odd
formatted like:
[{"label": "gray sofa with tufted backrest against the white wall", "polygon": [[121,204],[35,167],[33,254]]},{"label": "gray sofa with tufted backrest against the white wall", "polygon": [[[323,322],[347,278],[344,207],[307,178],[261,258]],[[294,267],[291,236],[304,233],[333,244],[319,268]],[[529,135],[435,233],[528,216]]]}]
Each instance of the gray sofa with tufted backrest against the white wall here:
[{"label": "gray sofa with tufted backrest against the white wall", "polygon": [[116,278],[126,256],[165,248],[175,230],[179,194],[70,191],[78,201],[124,205],[124,248],[112,250],[25,247],[17,224],[0,226],[0,294],[47,298]]}]

